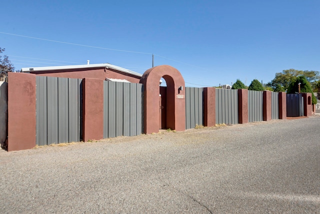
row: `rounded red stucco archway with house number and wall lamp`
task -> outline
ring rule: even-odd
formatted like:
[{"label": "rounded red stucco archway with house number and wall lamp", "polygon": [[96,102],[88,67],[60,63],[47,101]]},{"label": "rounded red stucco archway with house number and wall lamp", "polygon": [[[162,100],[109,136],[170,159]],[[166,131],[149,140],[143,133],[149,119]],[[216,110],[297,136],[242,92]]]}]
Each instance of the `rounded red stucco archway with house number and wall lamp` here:
[{"label": "rounded red stucco archway with house number and wall lamp", "polygon": [[159,131],[159,81],[161,77],[166,81],[166,127],[176,131],[185,130],[183,77],[177,69],[161,65],[148,69],[140,79],[144,87],[143,131],[146,134]]}]

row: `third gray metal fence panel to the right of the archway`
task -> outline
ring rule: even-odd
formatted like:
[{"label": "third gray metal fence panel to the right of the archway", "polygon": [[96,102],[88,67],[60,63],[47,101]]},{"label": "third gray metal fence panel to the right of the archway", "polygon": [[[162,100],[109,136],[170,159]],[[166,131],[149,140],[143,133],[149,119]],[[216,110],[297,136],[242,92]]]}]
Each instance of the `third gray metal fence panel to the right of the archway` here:
[{"label": "third gray metal fence panel to the right of the archway", "polygon": [[248,90],[248,120],[249,122],[263,120],[263,92]]}]

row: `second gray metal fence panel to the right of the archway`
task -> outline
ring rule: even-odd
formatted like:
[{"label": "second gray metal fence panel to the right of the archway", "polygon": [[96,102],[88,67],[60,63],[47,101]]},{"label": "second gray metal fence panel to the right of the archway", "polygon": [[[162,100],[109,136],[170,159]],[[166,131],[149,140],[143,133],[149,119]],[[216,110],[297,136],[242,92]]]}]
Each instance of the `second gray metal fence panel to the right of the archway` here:
[{"label": "second gray metal fence panel to the right of the archway", "polygon": [[238,123],[237,90],[215,89],[215,123]]}]

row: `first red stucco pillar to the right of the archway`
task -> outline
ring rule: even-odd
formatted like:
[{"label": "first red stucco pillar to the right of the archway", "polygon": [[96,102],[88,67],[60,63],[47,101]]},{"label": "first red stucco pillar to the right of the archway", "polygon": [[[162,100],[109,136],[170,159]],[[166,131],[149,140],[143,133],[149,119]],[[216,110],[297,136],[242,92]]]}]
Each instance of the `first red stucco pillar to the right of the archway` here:
[{"label": "first red stucco pillar to the right of the archway", "polygon": [[203,88],[204,126],[215,126],[215,88]]}]

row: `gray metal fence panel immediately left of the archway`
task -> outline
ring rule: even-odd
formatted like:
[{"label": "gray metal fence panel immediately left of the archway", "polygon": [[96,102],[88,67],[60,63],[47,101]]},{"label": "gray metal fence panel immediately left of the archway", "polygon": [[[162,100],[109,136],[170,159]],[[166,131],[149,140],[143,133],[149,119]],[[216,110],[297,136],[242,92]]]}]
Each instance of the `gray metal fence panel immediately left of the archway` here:
[{"label": "gray metal fence panel immediately left of the archway", "polygon": [[142,84],[103,82],[104,138],[142,133],[142,90]]}]

